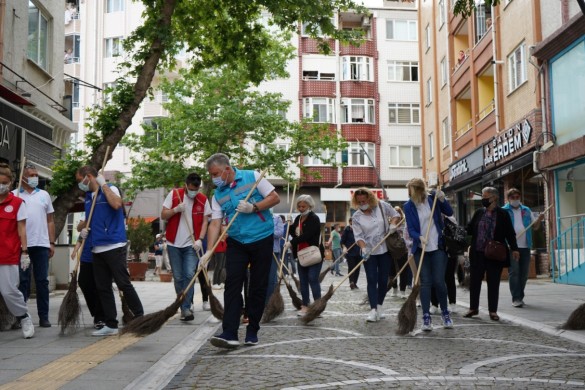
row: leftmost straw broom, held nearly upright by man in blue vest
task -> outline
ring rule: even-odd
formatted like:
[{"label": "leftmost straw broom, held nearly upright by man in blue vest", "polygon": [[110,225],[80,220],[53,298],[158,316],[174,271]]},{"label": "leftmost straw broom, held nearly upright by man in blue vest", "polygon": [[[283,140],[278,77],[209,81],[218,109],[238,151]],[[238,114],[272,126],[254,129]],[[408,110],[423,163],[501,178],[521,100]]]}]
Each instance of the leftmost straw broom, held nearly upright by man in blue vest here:
[{"label": "leftmost straw broom, held nearly upright by man in blue vest", "polygon": [[[104,161],[102,163],[102,169],[100,170],[100,174],[104,173],[104,168],[106,167],[106,163],[108,162],[109,153],[110,147],[108,146],[106,148],[106,154],[104,155]],[[99,188],[93,193],[91,208],[89,210],[89,216],[87,218],[86,223],[87,229],[90,229],[91,218],[93,217],[93,210],[95,208],[98,192]],[[79,295],[77,294],[77,273],[79,272],[79,259],[81,258],[81,253],[83,253],[84,245],[85,240],[81,242],[81,246],[77,251],[77,260],[75,262],[75,269],[71,273],[71,282],[69,283],[67,293],[63,297],[63,301],[61,302],[61,306],[59,307],[59,314],[57,315],[57,324],[61,325],[61,334],[64,334],[66,330],[75,329],[79,324],[81,306],[79,304]]]}]

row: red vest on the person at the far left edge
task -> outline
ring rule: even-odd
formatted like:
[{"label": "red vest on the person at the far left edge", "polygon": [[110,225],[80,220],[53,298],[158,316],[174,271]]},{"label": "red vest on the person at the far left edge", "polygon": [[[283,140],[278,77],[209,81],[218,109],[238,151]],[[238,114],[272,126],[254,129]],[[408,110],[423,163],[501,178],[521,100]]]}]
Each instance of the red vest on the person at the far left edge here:
[{"label": "red vest on the person at the far left edge", "polygon": [[16,216],[23,200],[8,193],[4,202],[0,203],[0,236],[2,237],[2,256],[0,264],[18,265],[20,262],[20,236]]}]

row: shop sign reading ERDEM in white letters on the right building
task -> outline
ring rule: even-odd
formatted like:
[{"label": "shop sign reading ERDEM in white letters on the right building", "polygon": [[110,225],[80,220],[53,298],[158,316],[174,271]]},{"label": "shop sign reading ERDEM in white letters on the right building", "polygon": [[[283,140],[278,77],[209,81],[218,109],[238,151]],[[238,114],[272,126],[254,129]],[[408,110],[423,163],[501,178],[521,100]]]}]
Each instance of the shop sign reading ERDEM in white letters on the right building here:
[{"label": "shop sign reading ERDEM in white letters on the right building", "polygon": [[516,124],[516,126],[502,132],[493,141],[486,144],[484,165],[497,164],[505,159],[522,151],[530,142],[532,126],[528,119]]}]

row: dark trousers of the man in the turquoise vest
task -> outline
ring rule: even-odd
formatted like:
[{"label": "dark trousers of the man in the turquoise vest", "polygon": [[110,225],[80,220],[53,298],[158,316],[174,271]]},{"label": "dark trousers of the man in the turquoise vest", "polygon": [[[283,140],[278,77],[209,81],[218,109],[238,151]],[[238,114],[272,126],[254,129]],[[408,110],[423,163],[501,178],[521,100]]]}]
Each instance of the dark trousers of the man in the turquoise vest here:
[{"label": "dark trousers of the man in the turquoise vest", "polygon": [[260,319],[264,313],[268,274],[272,264],[272,234],[258,241],[242,244],[228,238],[226,252],[226,279],[224,290],[223,330],[237,336],[240,326],[243,299],[242,287],[250,266],[250,284],[248,286],[248,328],[250,333],[260,329]]}]

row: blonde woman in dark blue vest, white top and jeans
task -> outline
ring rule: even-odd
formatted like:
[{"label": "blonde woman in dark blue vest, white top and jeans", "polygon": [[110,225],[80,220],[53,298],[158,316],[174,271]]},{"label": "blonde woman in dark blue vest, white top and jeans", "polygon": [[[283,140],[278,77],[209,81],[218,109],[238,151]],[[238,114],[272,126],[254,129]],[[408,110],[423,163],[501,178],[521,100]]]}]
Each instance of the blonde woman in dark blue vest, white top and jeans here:
[{"label": "blonde woman in dark blue vest, white top and jeans", "polygon": [[[443,217],[453,215],[453,209],[445,200],[443,191],[427,194],[425,182],[422,179],[413,178],[406,185],[410,200],[404,204],[406,226],[412,239],[411,253],[418,266],[423,251],[425,252],[422,267],[420,269],[420,302],[423,311],[424,331],[433,330],[431,323],[430,305],[431,288],[437,292],[441,306],[441,318],[444,328],[452,328],[453,321],[447,307],[447,287],[445,286],[445,268],[447,267],[447,253],[445,252],[445,239],[443,238]],[[431,210],[437,197],[437,204],[433,215]],[[430,228],[429,228],[430,223]],[[425,237],[427,231],[428,237]]]}]

